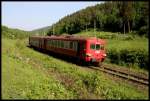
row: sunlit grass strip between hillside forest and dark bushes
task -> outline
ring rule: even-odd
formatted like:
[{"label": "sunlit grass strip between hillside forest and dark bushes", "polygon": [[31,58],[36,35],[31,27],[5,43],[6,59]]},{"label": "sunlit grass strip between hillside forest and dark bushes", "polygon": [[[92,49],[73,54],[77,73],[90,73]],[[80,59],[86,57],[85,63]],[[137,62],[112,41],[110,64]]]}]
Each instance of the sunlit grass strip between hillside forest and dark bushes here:
[{"label": "sunlit grass strip between hillside forest and dark bushes", "polygon": [[137,35],[133,35],[132,33],[121,34],[121,33],[113,33],[113,32],[80,32],[76,35],[79,36],[90,36],[90,37],[98,37],[106,40],[106,49],[116,48],[117,50],[121,49],[144,49],[148,51],[148,39],[145,37],[140,37]]}]

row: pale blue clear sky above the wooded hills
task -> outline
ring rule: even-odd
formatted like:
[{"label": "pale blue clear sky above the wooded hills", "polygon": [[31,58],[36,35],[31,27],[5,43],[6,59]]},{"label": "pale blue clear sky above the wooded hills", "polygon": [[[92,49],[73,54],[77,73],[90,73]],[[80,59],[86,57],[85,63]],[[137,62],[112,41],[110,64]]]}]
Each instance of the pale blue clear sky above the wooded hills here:
[{"label": "pale blue clear sky above the wooded hills", "polygon": [[68,14],[102,1],[94,2],[2,2],[2,25],[25,31],[51,26]]}]

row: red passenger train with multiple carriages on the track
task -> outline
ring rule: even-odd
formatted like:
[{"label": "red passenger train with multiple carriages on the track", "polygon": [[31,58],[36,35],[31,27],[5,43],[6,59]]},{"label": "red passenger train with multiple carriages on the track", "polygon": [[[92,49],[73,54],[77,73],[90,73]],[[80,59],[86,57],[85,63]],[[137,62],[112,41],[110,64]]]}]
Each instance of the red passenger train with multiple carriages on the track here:
[{"label": "red passenger train with multiple carriages on the track", "polygon": [[106,58],[106,41],[96,37],[30,36],[29,46],[72,57],[81,63],[101,65]]}]

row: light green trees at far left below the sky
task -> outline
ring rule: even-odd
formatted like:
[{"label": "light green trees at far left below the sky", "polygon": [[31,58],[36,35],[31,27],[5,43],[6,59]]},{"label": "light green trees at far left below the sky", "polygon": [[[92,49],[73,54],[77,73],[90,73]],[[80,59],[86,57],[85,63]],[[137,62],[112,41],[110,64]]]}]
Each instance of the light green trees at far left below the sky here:
[{"label": "light green trees at far left below the sky", "polygon": [[24,39],[33,35],[33,33],[28,31],[23,31],[19,29],[12,29],[6,26],[1,26],[2,37],[10,38],[10,39]]}]

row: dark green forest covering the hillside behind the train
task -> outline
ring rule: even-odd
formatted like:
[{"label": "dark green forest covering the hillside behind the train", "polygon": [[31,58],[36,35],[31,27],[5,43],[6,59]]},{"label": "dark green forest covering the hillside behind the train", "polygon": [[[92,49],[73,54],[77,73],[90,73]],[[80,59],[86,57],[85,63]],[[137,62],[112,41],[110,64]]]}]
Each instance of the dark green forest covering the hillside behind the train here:
[{"label": "dark green forest covering the hillside behind the train", "polygon": [[94,28],[97,31],[148,36],[149,4],[142,1],[108,1],[67,15],[53,24],[51,34],[74,34]]}]

